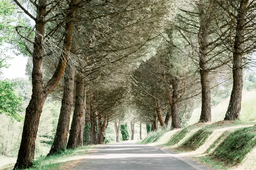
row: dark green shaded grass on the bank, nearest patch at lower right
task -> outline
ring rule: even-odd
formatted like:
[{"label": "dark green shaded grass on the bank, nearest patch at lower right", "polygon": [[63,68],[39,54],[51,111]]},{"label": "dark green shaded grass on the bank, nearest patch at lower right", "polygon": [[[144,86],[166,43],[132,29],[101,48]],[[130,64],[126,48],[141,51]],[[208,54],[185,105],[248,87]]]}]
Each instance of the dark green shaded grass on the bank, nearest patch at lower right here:
[{"label": "dark green shaded grass on the bank, nearest patch at lower right", "polygon": [[256,145],[256,127],[240,128],[231,132],[210,156],[226,165],[233,166]]}]

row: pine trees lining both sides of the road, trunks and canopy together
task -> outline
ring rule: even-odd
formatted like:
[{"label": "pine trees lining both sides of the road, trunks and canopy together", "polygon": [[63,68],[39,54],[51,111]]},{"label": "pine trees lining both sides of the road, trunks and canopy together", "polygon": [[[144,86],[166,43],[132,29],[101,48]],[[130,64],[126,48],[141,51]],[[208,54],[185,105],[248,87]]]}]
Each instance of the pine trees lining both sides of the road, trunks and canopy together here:
[{"label": "pine trees lining both sides of the road, trunks and canopy together", "polygon": [[118,140],[125,110],[131,107],[135,119],[151,124],[152,131],[158,121],[163,129],[170,120],[172,128],[181,128],[201,99],[199,122],[210,122],[211,90],[229,81],[231,71],[225,120],[239,119],[243,68],[254,64],[254,1],[14,2],[18,12],[35,22],[34,27],[16,27],[24,40],[23,48],[17,47],[30,56],[32,96],[14,168],[32,166],[49,94],[61,100],[61,109],[48,156],[103,143],[110,121]]}]

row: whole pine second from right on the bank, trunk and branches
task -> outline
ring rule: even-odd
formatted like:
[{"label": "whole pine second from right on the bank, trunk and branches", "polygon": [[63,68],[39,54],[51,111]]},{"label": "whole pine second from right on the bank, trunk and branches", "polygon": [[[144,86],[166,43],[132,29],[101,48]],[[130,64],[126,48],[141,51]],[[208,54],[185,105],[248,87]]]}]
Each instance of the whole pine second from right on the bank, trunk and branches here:
[{"label": "whole pine second from right on the bank, trunk and branches", "polygon": [[211,89],[215,85],[212,80],[214,76],[218,77],[218,72],[221,72],[221,69],[223,70],[224,66],[230,62],[226,57],[228,52],[222,46],[223,35],[218,30],[224,28],[223,32],[227,33],[229,29],[226,27],[226,22],[216,25],[214,20],[216,10],[212,8],[212,2],[199,0],[194,1],[191,6],[184,6],[178,13],[176,24],[180,29],[181,37],[191,47],[188,57],[196,65],[200,74],[202,106],[199,122],[203,123],[211,121]]}]

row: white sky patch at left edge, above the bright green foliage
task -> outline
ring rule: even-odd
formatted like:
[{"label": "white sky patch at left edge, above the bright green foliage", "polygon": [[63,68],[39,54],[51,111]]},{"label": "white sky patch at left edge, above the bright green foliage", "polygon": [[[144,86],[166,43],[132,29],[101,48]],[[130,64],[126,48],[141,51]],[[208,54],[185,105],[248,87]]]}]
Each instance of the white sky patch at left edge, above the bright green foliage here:
[{"label": "white sky patch at left edge, above the bright green foliage", "polygon": [[[7,47],[7,45],[3,44],[3,46],[1,46],[0,48],[4,49],[4,47]],[[28,57],[24,57],[22,55],[16,56],[15,54],[13,54],[11,49],[8,50],[5,54],[13,57],[13,59],[8,60],[8,64],[11,65],[9,66],[9,68],[2,69],[2,72],[4,73],[4,79],[14,79],[17,77],[26,78],[25,69]]]}]

